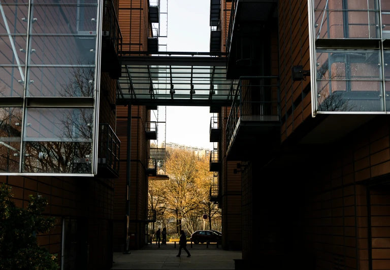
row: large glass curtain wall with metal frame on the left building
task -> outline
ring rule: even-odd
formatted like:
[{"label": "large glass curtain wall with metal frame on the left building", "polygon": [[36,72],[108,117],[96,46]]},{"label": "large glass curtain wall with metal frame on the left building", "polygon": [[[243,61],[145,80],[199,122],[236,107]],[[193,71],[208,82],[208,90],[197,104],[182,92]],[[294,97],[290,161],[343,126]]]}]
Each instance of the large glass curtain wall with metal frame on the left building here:
[{"label": "large glass curtain wall with metal frame on the left building", "polygon": [[0,0],[0,174],[95,174],[101,10]]}]

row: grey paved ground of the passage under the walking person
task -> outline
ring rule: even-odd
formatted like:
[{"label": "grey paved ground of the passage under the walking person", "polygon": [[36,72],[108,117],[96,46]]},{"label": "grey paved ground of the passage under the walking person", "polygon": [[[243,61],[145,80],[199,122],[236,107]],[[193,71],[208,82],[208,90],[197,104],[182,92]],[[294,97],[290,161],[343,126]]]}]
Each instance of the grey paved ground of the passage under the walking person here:
[{"label": "grey paved ground of the passage under the walking person", "polygon": [[131,250],[131,254],[114,253],[114,262],[112,269],[115,270],[225,270],[234,269],[234,260],[241,259],[241,251],[225,251],[216,244],[187,243],[187,249],[191,257],[187,258],[187,253],[182,250],[181,257],[178,254],[179,245],[167,243],[167,245],[147,245],[140,250]]}]

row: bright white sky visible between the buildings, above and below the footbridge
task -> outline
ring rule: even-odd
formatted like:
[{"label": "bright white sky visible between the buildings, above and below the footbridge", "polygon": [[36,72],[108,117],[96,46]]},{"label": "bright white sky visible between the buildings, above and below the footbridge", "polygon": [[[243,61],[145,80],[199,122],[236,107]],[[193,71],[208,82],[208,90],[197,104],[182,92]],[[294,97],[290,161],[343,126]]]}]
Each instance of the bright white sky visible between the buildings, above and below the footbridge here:
[{"label": "bright white sky visible between the buildings, above and below the footbridge", "polygon": [[[168,51],[210,51],[210,0],[168,0],[168,38],[159,44]],[[167,142],[212,149],[209,111],[167,106]]]}]

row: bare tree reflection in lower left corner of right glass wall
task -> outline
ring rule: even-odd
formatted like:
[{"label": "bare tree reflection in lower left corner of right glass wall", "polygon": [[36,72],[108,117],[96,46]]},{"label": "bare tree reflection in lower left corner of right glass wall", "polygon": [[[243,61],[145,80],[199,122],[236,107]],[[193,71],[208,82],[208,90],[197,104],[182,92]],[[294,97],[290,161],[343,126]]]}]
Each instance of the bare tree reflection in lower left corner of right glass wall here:
[{"label": "bare tree reflection in lower left corner of right glass wall", "polygon": [[[331,76],[330,76],[331,74]],[[330,85],[337,80],[340,83],[346,83],[345,72],[332,67],[329,70],[329,63],[326,62],[317,70],[317,80],[319,82],[328,81],[325,85],[317,83],[317,101],[318,111],[320,112],[352,112],[356,110],[356,104],[345,97],[346,91],[333,91]]]}]

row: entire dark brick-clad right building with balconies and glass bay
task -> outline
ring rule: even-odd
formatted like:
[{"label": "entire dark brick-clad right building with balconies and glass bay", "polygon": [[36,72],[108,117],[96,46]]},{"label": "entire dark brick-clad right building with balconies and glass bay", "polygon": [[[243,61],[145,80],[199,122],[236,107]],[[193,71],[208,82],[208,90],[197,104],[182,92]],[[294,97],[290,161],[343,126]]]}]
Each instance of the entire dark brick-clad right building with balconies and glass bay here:
[{"label": "entire dark brick-clad right building with balconies and glass bay", "polygon": [[237,267],[390,268],[388,1],[231,3]]}]

